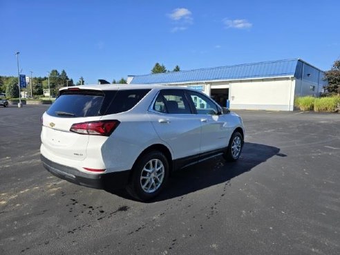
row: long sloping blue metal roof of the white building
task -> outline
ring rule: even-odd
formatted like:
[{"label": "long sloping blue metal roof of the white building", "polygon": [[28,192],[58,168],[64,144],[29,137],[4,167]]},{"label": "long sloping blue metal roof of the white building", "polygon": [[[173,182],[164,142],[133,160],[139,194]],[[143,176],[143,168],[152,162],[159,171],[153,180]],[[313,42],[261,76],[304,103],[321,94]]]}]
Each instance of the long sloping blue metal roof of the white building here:
[{"label": "long sloping blue metal roof of the white building", "polygon": [[136,75],[131,84],[173,84],[212,80],[252,79],[260,77],[294,76],[300,59],[220,66],[179,72]]}]

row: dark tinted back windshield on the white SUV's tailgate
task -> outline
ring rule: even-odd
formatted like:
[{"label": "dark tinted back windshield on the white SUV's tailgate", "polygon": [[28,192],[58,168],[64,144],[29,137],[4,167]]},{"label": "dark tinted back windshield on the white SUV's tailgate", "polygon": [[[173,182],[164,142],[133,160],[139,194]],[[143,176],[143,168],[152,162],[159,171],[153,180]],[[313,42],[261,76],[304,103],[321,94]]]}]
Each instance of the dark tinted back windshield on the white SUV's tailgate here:
[{"label": "dark tinted back windshield on the white SUV's tailgate", "polygon": [[65,91],[48,108],[55,117],[92,117],[100,115],[105,94],[102,91]]}]

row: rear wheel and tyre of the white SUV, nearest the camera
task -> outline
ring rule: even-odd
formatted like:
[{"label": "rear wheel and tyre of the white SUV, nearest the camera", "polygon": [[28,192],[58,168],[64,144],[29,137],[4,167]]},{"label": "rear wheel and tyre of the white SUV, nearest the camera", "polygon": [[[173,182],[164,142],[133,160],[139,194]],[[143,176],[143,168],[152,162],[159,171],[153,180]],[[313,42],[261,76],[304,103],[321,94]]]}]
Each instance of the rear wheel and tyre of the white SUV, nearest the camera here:
[{"label": "rear wheel and tyre of the white SUV, nearest the camera", "polygon": [[132,178],[126,191],[133,198],[147,201],[164,189],[169,177],[169,162],[163,153],[151,151],[142,155],[132,169]]}]

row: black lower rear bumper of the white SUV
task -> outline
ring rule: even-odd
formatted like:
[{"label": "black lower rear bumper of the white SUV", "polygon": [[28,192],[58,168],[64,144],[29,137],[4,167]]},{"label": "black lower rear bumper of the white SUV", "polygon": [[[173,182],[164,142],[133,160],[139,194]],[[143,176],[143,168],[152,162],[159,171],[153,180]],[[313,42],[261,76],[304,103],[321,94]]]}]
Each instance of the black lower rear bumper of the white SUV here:
[{"label": "black lower rear bumper of the white SUV", "polygon": [[40,155],[40,158],[47,171],[76,185],[94,189],[122,189],[129,182],[131,172],[129,170],[100,174],[83,173],[73,167],[67,167],[48,160],[43,155]]}]

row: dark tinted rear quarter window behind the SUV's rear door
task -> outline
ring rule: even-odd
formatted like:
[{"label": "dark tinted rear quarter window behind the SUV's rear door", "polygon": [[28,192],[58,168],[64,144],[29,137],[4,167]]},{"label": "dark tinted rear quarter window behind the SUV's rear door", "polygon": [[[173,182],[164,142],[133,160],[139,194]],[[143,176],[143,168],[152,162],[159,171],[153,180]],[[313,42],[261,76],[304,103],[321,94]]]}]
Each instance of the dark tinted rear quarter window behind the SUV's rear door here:
[{"label": "dark tinted rear quarter window behind the SUV's rear door", "polygon": [[111,104],[108,106],[106,115],[123,113],[124,111],[129,111],[133,108],[142,98],[151,91],[150,89],[129,89],[117,91],[115,97],[113,98]]}]

